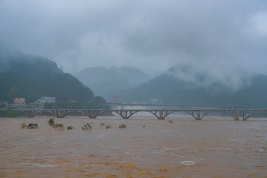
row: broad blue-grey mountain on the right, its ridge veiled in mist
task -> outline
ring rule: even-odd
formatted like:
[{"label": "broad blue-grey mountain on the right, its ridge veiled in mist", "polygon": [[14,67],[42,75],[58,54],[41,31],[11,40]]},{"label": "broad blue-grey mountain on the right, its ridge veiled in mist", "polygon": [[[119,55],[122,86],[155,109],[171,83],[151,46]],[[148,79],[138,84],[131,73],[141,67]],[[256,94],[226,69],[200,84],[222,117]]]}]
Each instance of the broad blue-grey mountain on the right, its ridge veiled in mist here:
[{"label": "broad blue-grey mountain on the right, its ridge veiled in mist", "polygon": [[214,82],[211,76],[203,74],[196,74],[194,80],[190,77],[187,80],[178,78],[173,75],[175,70],[177,68],[170,68],[166,73],[147,83],[111,92],[105,98],[107,101],[112,101],[116,95],[118,102],[128,103],[150,103],[151,99],[158,99],[162,104],[173,105],[267,108],[265,75],[253,74],[245,77],[244,74],[241,75],[240,81],[236,81],[239,87],[229,87],[230,85]]}]

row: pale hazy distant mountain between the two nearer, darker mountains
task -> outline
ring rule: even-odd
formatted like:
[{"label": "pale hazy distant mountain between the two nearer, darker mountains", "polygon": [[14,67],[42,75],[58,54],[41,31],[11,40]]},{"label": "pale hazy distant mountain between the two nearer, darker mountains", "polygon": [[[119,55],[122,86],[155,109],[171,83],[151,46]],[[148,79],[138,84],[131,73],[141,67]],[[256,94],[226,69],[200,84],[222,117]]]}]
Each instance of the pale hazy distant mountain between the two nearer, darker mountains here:
[{"label": "pale hazy distant mountain between the two nearer, darker mountains", "polygon": [[127,89],[147,82],[150,77],[134,67],[91,67],[74,73],[84,85],[96,95],[105,95],[114,90]]}]

